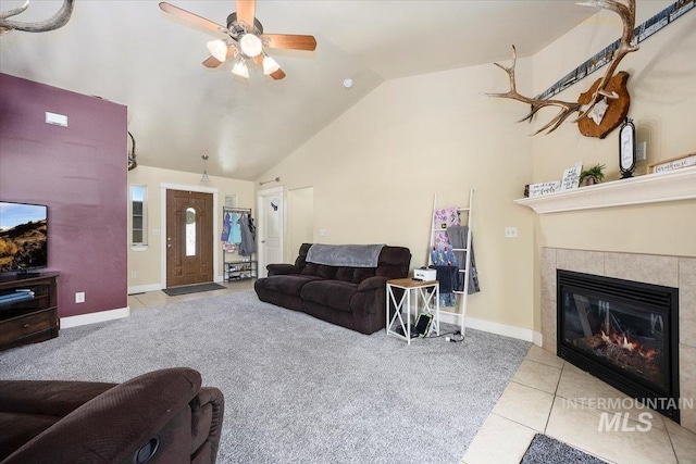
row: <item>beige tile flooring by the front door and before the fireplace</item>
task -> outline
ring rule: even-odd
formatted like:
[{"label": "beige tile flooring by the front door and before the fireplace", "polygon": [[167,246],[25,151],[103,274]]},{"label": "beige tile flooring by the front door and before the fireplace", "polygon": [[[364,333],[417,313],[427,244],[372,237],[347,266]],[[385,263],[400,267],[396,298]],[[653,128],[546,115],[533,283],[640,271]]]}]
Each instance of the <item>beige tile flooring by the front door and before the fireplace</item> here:
[{"label": "beige tile flooring by the front door and before the fireplace", "polygon": [[[169,297],[163,291],[132,294],[128,305],[137,311],[253,289],[253,280],[222,285],[227,288],[179,297]],[[601,409],[611,404],[601,404],[597,401],[600,399],[627,397],[555,354],[532,346],[469,447],[462,464],[519,463],[537,432],[609,463],[696,464],[695,434],[655,412],[651,418],[641,416],[649,410]],[[622,415],[619,428],[634,430],[599,431],[600,421],[609,424],[614,414]],[[647,424],[649,430],[646,430]]]}]

